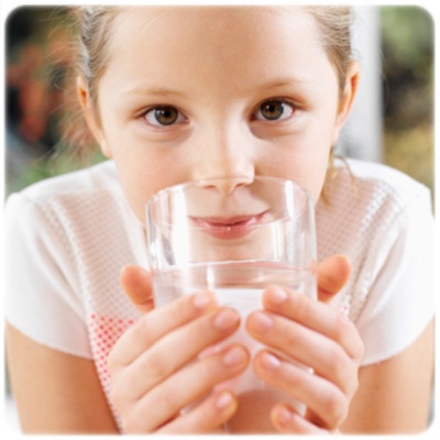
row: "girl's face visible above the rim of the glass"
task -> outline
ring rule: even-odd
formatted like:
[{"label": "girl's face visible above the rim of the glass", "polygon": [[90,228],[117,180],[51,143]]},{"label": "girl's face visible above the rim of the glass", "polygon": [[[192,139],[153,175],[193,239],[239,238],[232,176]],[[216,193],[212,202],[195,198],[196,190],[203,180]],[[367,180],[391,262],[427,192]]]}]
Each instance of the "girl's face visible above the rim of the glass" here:
[{"label": "girl's face visible above the rim of the glass", "polygon": [[[318,198],[354,96],[293,8],[131,8],[113,22],[88,117],[136,216],[178,183],[289,178]],[[79,86],[90,108],[87,89]],[[95,113],[96,114],[96,113]]]}]

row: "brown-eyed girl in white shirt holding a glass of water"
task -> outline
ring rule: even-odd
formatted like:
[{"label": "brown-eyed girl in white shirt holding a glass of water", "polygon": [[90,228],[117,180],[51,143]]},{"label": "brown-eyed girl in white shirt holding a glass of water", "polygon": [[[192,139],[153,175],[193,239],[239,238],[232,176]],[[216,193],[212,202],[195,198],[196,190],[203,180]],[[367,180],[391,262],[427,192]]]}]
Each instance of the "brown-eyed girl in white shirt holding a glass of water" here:
[{"label": "brown-eyed girl in white shirt holding a glass of water", "polygon": [[[348,161],[328,173],[359,78],[350,10],[87,7],[79,15],[78,96],[110,161],[8,201],[8,359],[23,429],[424,430],[429,194],[381,165]],[[315,196],[320,300],[271,287],[245,323],[265,350],[251,360],[233,344],[198,359],[240,317],[209,292],[154,308],[140,267],[144,205],[186,180],[257,175],[292,178]],[[306,414],[277,402],[265,419],[242,411],[232,389],[210,392],[249,363]]]}]

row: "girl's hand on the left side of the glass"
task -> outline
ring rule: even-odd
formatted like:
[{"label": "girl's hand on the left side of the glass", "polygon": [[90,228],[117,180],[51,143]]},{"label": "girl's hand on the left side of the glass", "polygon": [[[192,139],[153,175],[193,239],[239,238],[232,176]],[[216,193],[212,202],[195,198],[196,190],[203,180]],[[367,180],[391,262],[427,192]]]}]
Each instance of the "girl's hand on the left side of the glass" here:
[{"label": "girl's hand on the left side of the glass", "polygon": [[[122,284],[127,288],[132,282],[130,270],[129,275],[125,271]],[[233,344],[204,359],[197,356],[232,334],[240,317],[232,309],[219,308],[208,292],[155,310],[151,306],[150,299],[142,304],[146,314],[120,338],[108,360],[111,400],[123,429],[128,433],[212,432],[235,413],[237,399],[228,391],[209,393],[243,372],[249,354]]]}]

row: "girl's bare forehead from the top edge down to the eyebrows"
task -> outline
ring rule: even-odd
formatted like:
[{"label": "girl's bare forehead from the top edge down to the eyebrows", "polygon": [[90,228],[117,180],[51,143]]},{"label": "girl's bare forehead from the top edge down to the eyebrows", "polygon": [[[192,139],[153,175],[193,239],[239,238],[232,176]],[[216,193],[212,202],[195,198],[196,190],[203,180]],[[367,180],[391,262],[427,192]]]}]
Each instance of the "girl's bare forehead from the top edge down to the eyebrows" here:
[{"label": "girl's bare forehead from the top edge down to the eyebrows", "polygon": [[112,26],[106,91],[118,85],[163,96],[166,85],[240,99],[274,82],[312,87],[334,76],[315,19],[298,7],[133,7]]}]

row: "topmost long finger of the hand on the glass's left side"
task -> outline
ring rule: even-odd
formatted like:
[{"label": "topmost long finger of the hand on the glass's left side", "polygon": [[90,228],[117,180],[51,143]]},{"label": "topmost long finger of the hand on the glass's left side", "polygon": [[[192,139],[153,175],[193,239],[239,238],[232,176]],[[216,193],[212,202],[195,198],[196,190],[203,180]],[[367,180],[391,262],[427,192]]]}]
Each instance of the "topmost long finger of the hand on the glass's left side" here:
[{"label": "topmost long finger of the hand on the glass's left side", "polygon": [[142,316],[114,344],[108,359],[110,374],[131,364],[158,339],[217,308],[215,296],[200,292]]}]

